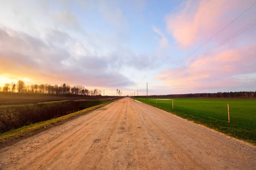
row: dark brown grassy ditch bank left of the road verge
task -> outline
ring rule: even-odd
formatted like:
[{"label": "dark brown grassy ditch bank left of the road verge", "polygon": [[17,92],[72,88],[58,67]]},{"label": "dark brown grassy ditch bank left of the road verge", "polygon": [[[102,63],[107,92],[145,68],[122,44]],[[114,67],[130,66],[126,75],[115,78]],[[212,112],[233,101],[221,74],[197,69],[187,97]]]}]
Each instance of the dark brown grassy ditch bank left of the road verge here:
[{"label": "dark brown grassy ditch bank left of the road verge", "polygon": [[81,111],[102,102],[63,100],[28,105],[3,105],[0,106],[0,133]]}]

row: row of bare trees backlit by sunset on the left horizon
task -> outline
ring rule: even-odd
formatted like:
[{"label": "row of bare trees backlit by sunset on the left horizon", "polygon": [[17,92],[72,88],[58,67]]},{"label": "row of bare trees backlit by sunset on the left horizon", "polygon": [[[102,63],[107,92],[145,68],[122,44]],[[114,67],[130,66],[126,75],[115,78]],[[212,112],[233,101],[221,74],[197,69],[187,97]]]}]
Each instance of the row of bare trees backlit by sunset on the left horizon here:
[{"label": "row of bare trees backlit by sunset on the left horizon", "polygon": [[61,85],[25,85],[25,82],[23,82],[22,80],[17,81],[17,83],[6,83],[3,87],[0,87],[0,91],[20,94],[48,94],[54,96],[98,96],[102,94],[102,90],[100,89],[95,88],[94,90],[88,90],[82,85],[70,86],[66,83],[63,83]]}]

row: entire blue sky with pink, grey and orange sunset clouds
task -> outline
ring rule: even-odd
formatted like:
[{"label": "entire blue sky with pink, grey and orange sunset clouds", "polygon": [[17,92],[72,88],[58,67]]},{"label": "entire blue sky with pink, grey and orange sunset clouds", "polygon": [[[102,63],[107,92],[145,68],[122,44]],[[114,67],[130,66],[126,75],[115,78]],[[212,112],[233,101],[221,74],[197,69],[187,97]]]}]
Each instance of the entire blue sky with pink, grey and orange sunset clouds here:
[{"label": "entire blue sky with pink, grey and orange sunset clouds", "polygon": [[0,0],[0,86],[21,79],[105,95],[145,95],[146,83],[148,95],[256,91],[254,3]]}]

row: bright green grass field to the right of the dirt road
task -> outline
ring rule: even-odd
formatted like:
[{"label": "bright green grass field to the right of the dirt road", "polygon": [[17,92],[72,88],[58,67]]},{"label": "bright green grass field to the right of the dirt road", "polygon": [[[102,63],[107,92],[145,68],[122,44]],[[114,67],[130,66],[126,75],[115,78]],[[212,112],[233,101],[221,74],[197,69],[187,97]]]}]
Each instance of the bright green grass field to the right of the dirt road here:
[{"label": "bright green grass field to the right of the dirt road", "polygon": [[[149,102],[146,99],[144,102],[141,98],[137,100],[229,136],[256,144],[256,100],[175,98],[174,109],[172,109],[172,100],[157,100],[156,104],[154,99],[157,98],[148,99]],[[230,124],[228,124],[227,103],[230,105]]]}]

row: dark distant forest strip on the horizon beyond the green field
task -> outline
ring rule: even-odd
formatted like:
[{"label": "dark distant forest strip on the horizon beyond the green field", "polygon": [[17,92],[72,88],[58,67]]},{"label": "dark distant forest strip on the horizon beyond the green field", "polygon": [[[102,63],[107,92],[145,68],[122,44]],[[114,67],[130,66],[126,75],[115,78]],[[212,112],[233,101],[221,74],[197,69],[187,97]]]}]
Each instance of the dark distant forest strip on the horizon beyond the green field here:
[{"label": "dark distant forest strip on the horizon beyond the green field", "polygon": [[179,97],[179,98],[256,98],[256,91],[235,91],[218,93],[196,93],[196,94],[168,94],[153,95],[150,97]]}]

